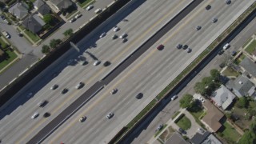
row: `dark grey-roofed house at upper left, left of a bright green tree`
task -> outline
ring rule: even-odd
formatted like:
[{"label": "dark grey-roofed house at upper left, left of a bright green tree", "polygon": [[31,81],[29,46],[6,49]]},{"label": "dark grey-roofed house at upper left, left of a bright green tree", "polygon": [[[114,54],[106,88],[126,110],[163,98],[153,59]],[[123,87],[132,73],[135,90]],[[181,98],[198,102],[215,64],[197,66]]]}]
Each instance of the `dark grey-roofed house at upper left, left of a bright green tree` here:
[{"label": "dark grey-roofed house at upper left, left of a bright green tree", "polygon": [[42,30],[42,26],[46,23],[42,21],[37,14],[30,15],[22,22],[22,26],[26,27],[27,30],[30,30],[32,33],[37,34],[40,30]]}]

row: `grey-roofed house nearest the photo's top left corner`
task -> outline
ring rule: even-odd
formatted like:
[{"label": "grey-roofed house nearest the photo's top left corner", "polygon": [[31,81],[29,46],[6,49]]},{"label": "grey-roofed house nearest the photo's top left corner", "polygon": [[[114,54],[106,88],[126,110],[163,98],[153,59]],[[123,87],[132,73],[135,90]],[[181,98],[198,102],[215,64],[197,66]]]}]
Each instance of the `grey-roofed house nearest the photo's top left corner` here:
[{"label": "grey-roofed house nearest the photo's top left corner", "polygon": [[14,6],[11,6],[9,12],[18,19],[23,19],[28,14],[26,6],[24,6],[21,2],[17,2]]}]

